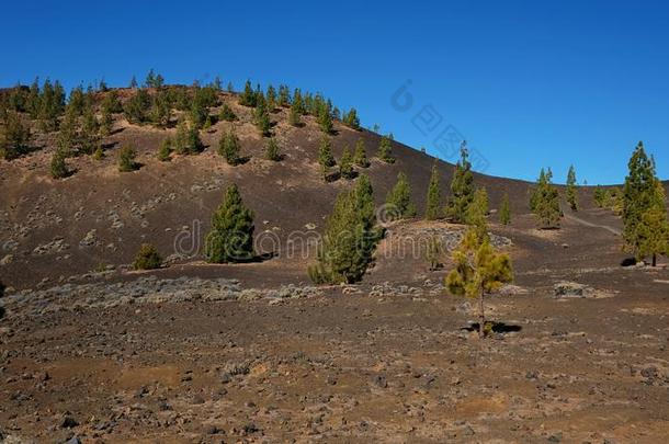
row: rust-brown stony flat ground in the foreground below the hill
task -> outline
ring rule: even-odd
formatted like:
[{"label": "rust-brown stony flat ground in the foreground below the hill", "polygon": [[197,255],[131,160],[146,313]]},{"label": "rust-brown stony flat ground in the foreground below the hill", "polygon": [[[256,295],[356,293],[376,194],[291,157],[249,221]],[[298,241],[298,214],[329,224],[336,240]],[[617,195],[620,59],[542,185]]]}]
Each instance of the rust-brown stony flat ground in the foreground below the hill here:
[{"label": "rust-brown stony flat ground in the foreground below the hill", "polygon": [[[669,272],[621,267],[608,229],[531,225],[494,228],[517,287],[489,299],[500,325],[483,341],[443,272],[384,257],[360,286],[302,297],[16,303],[0,424],[39,442],[664,442]],[[271,263],[239,270],[242,287]],[[565,280],[591,293],[556,298]]]}]

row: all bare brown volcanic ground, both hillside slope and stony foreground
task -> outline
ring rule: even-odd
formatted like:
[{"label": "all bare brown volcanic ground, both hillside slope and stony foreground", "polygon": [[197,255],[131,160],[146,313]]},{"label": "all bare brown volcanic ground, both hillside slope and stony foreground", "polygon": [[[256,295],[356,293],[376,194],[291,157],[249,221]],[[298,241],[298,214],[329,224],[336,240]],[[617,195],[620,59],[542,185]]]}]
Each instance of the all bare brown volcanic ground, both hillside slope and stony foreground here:
[{"label": "all bare brown volcanic ground, both hillside slope and stony foreground", "polygon": [[[478,340],[474,303],[442,285],[451,263],[430,272],[421,250],[427,236],[454,240],[462,227],[389,224],[361,285],[311,286],[313,246],[292,248],[291,234],[322,230],[351,182],[321,180],[311,118],[293,128],[285,110],[273,115],[285,153],[273,163],[251,111],[224,100],[252,157],[240,167],[215,153],[228,123],[203,135],[204,153],[160,163],[173,129],[122,118],[107,157],[70,160],[78,171],[67,180],[48,177],[48,138],[0,161],[0,280],[10,287],[0,442],[667,442],[669,271],[621,266],[620,219],[593,208],[591,190],[562,229],[537,230],[526,183],[476,177],[492,209],[511,196],[513,223],[492,214],[490,228],[515,271],[488,299],[497,325]],[[363,137],[373,158],[377,135],[337,129],[336,157]],[[128,143],[144,167],[121,174],[116,151]],[[378,204],[406,172],[421,208],[434,160],[400,144],[394,152],[394,164],[372,159],[362,172]],[[445,196],[452,167],[440,171]],[[274,259],[202,262],[231,182],[256,212],[257,236],[274,240],[259,251]],[[407,239],[416,243],[398,250]],[[141,242],[170,266],[128,271]],[[556,297],[556,285],[582,297]]]}]

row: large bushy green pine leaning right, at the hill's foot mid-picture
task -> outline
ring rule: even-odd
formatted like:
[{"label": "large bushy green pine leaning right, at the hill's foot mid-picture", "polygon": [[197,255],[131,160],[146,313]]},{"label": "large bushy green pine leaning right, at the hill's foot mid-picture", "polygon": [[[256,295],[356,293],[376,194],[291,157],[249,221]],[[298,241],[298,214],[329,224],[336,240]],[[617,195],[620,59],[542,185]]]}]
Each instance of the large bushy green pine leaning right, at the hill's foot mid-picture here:
[{"label": "large bushy green pine leaning right, at the hill's foot mid-picture", "polygon": [[362,175],[337,197],[318,246],[318,263],[308,272],[317,284],[355,283],[373,261],[383,231],[376,226],[372,183]]}]

